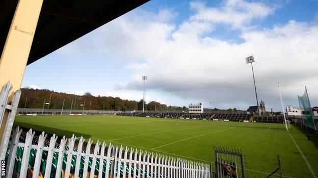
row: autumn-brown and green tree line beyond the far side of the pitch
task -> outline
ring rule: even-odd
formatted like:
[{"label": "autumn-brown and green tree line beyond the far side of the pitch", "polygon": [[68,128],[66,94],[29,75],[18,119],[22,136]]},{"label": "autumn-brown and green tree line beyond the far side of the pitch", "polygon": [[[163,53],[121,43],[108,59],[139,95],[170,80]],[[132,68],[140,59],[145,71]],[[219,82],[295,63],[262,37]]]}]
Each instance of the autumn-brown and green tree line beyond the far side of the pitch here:
[{"label": "autumn-brown and green tree line beyond the far side of the pitch", "polygon": [[[107,111],[127,111],[142,110],[143,100],[127,100],[112,96],[93,96],[90,92],[84,95],[55,92],[47,89],[21,88],[19,108],[61,109],[64,100],[64,109],[73,110],[107,110]],[[85,102],[85,104],[84,104]],[[45,104],[49,103],[49,104]],[[83,105],[82,105],[83,104]],[[167,110],[187,110],[186,106],[167,106],[157,101],[145,102],[145,110],[167,111]]]}]

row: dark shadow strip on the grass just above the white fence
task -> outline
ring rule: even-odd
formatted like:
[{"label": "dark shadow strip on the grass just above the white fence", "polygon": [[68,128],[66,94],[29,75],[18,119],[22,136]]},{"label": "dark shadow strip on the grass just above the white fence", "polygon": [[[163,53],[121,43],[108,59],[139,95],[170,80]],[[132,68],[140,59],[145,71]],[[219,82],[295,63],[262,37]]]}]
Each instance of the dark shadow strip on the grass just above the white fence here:
[{"label": "dark shadow strip on the grass just above the white fence", "polygon": [[25,122],[14,121],[13,128],[15,128],[16,126],[19,126],[23,130],[23,132],[28,132],[29,129],[32,128],[32,130],[34,130],[36,132],[36,135],[40,135],[41,132],[44,131],[45,133],[47,133],[49,135],[48,138],[50,138],[50,136],[53,135],[54,133],[56,135],[58,135],[59,138],[61,138],[63,136],[70,138],[70,137],[72,137],[73,134],[77,137],[80,137],[80,136],[83,136],[84,138],[91,137],[91,135],[88,135],[85,133],[72,132],[72,131],[68,131],[68,130],[61,130],[61,129],[45,127],[45,126],[41,126],[41,125],[35,125],[35,124],[30,124],[30,123],[25,123]]}]

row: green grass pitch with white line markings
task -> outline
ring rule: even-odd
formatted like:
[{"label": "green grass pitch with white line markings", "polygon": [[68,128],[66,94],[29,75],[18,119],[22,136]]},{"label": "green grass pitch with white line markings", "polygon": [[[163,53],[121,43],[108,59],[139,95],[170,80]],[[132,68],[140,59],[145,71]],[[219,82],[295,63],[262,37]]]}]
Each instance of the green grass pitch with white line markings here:
[{"label": "green grass pitch with white line markings", "polygon": [[318,176],[318,138],[308,140],[294,125],[290,134],[283,124],[127,116],[17,116],[15,125],[60,136],[84,134],[95,143],[99,139],[211,163],[213,170],[214,145],[241,148],[247,177],[269,175],[278,167],[277,155],[281,156],[285,177]]}]

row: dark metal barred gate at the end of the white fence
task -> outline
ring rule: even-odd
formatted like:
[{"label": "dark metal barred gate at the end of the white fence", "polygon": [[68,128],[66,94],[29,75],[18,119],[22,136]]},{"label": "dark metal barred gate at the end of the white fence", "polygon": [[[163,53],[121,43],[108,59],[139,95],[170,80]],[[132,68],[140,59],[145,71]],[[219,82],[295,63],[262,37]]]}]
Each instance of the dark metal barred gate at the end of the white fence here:
[{"label": "dark metal barred gate at the end of the white fence", "polygon": [[214,146],[216,177],[245,178],[241,149]]}]

